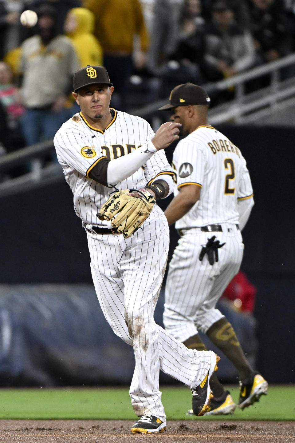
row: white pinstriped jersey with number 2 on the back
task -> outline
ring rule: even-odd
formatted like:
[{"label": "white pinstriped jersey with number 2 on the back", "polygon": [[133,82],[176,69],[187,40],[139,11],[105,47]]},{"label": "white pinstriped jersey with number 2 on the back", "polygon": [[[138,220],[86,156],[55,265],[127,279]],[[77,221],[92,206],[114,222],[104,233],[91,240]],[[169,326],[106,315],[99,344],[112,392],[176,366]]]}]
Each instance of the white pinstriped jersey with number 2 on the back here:
[{"label": "white pinstriped jersey with number 2 on the back", "polygon": [[210,125],[199,126],[177,144],[172,167],[174,195],[186,184],[202,188],[199,201],[176,221],[176,229],[239,222],[237,200],[251,197],[253,190],[245,159],[226,136]]}]

